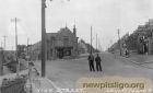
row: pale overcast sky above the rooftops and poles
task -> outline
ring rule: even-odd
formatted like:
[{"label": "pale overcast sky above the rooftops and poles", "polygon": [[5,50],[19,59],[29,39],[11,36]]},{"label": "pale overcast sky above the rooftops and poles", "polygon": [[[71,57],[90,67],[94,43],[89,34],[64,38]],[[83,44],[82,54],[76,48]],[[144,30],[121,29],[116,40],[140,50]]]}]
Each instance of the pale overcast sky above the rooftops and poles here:
[{"label": "pale overcast sky above the rooftops and poles", "polygon": [[[15,49],[14,18],[17,18],[19,44],[40,40],[40,1],[3,0],[0,2],[0,43],[7,35],[7,49]],[[153,0],[46,0],[46,32],[55,33],[66,25],[76,26],[80,39],[90,43],[93,27],[93,46],[96,34],[105,50],[120,36],[132,33],[138,25],[153,19]]]}]

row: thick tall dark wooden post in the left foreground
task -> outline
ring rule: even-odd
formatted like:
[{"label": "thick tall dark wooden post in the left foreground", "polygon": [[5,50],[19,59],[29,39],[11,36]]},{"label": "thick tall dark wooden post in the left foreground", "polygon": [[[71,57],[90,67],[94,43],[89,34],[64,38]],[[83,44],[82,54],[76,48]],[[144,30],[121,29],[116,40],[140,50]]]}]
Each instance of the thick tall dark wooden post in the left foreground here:
[{"label": "thick tall dark wooden post in the left foreground", "polygon": [[46,0],[42,0],[42,77],[46,74],[46,28],[45,28]]}]

